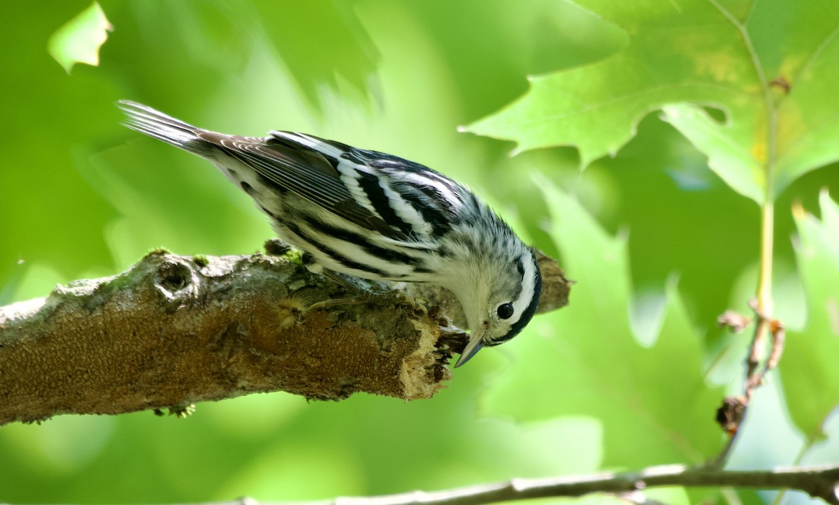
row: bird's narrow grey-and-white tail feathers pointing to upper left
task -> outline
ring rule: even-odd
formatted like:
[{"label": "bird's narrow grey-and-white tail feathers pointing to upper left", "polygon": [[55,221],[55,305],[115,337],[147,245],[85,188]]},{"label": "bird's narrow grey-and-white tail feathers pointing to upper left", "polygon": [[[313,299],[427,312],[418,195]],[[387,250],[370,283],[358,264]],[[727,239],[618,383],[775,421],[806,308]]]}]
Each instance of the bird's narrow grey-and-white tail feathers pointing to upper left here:
[{"label": "bird's narrow grey-and-white tail feathers pointing to upper left", "polygon": [[142,103],[120,100],[117,102],[117,107],[128,116],[122,124],[136,132],[145,133],[149,137],[203,157],[208,157],[214,150],[211,143],[199,138],[199,133],[204,132],[201,128],[167,116]]}]

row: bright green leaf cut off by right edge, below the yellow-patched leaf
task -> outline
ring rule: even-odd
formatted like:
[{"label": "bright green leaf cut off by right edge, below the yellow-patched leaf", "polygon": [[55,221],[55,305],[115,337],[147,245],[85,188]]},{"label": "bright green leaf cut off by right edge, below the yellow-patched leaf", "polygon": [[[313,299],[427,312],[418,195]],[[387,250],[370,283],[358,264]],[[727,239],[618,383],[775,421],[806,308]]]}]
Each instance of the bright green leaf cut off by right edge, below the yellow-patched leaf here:
[{"label": "bright green leaf cut off by right edge, below the yellow-patched leaf", "polygon": [[821,221],[794,212],[808,321],[804,331],[789,331],[780,362],[789,414],[810,441],[839,406],[839,206],[826,191],[820,203]]}]

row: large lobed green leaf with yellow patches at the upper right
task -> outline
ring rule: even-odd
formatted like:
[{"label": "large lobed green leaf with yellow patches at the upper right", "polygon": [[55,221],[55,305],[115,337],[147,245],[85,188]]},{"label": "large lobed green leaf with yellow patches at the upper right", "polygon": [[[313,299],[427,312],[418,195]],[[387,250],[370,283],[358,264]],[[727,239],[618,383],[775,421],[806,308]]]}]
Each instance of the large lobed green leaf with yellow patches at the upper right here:
[{"label": "large lobed green leaf with yellow patches at the upper right", "polygon": [[[595,65],[531,80],[529,92],[473,123],[517,151],[576,146],[581,164],[614,154],[649,112],[709,157],[732,189],[762,202],[839,159],[839,18],[817,0],[576,3],[623,28],[623,51]],[[701,107],[725,113],[711,117]]]}]

